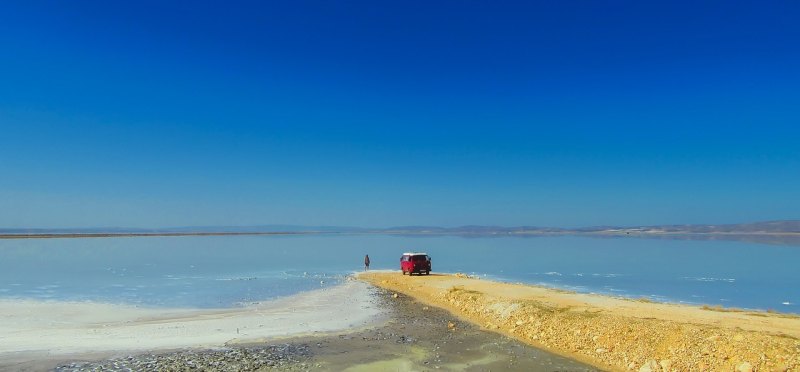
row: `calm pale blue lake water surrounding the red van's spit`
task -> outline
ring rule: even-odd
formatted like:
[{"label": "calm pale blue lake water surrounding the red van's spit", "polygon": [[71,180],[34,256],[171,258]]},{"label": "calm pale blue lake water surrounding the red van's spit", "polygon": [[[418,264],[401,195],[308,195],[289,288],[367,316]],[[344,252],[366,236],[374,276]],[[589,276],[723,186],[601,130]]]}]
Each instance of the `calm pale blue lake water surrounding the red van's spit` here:
[{"label": "calm pale blue lake water surrounding the red van's spit", "polygon": [[[0,298],[230,307],[397,269],[426,251],[433,270],[581,292],[800,313],[800,247],[637,238],[382,235],[0,240]],[[398,274],[399,275],[399,274]]]}]

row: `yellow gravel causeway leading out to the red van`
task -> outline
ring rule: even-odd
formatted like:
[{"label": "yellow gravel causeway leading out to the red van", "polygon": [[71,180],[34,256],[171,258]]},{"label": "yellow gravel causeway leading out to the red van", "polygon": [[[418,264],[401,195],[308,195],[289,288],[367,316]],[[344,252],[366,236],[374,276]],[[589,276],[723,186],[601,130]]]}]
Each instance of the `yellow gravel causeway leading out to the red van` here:
[{"label": "yellow gravel causeway leading out to the red van", "polygon": [[797,370],[800,317],[640,302],[463,275],[359,275],[487,329],[612,370]]}]

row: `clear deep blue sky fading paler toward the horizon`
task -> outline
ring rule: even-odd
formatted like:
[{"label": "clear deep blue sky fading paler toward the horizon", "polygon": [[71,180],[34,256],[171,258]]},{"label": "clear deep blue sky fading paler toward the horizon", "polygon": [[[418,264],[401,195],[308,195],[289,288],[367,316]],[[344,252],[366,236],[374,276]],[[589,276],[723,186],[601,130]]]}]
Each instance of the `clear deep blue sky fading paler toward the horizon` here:
[{"label": "clear deep blue sky fading paler toward the horizon", "polygon": [[10,1],[0,227],[800,218],[797,1]]}]

